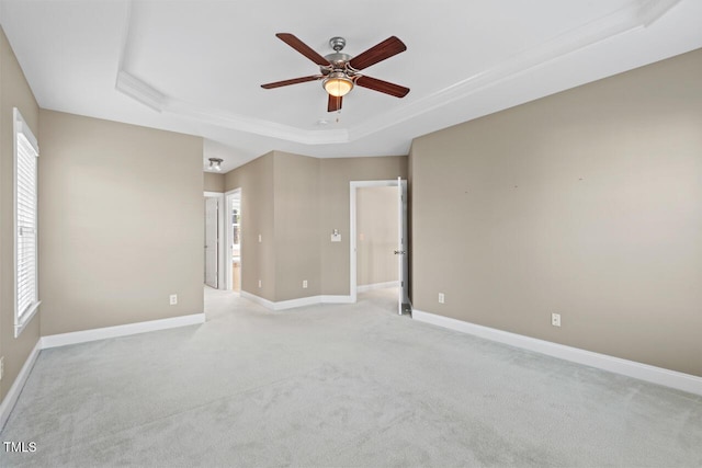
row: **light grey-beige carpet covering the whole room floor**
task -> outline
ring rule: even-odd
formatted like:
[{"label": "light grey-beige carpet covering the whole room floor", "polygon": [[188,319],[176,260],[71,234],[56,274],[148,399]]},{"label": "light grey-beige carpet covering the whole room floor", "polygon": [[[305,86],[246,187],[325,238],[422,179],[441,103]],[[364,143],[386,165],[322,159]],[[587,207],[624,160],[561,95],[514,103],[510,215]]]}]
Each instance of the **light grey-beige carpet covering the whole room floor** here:
[{"label": "light grey-beige carpet covering the whole room floor", "polygon": [[[702,397],[415,322],[392,290],[43,351],[0,466],[702,466]],[[0,447],[1,448],[1,447]]]}]

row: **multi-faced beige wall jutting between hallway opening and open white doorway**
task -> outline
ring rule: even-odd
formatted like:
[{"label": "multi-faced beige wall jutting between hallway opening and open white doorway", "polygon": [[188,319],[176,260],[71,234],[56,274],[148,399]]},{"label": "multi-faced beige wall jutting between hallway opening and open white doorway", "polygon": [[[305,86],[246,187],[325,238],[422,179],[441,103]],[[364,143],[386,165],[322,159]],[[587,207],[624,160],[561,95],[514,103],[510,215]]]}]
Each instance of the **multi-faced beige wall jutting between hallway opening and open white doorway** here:
[{"label": "multi-faced beige wall jutting between hallway opening and open white doorway", "polygon": [[[316,159],[279,151],[228,172],[225,190],[241,187],[244,290],[273,301],[349,295],[349,183],[398,175],[407,176],[405,156]],[[341,242],[330,241],[333,229]],[[272,236],[274,244],[267,240]]]}]

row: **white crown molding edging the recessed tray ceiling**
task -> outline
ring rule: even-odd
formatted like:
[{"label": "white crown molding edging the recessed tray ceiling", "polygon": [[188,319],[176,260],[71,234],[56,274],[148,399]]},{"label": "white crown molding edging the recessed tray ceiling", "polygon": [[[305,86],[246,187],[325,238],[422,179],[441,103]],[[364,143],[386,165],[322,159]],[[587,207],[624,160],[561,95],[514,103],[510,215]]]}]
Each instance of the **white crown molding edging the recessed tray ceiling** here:
[{"label": "white crown molding edging the recessed tray ceiling", "polygon": [[490,69],[476,73],[427,98],[409,102],[384,114],[378,114],[369,118],[363,124],[355,125],[349,129],[328,130],[305,130],[271,121],[249,118],[244,115],[223,112],[216,109],[197,106],[174,96],[169,96],[136,78],[126,69],[126,62],[128,61],[126,57],[128,57],[129,49],[129,26],[133,12],[132,2],[129,2],[126,16],[127,24],[125,25],[125,38],[120,54],[115,89],[156,112],[167,112],[183,118],[233,130],[304,145],[346,144],[394,127],[454,101],[468,98],[476,92],[610,37],[639,27],[648,27],[680,1],[681,0],[632,1],[629,5],[620,10],[561,34],[541,46],[516,54]]}]

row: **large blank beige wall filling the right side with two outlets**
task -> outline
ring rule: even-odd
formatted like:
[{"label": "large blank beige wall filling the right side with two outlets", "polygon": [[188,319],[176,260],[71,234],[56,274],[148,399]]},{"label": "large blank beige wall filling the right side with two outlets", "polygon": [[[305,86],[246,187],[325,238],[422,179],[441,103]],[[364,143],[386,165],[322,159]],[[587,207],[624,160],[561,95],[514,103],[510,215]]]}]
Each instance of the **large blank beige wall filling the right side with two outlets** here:
[{"label": "large blank beige wall filling the right side with two outlets", "polygon": [[416,139],[415,307],[702,376],[700,77],[695,50]]}]

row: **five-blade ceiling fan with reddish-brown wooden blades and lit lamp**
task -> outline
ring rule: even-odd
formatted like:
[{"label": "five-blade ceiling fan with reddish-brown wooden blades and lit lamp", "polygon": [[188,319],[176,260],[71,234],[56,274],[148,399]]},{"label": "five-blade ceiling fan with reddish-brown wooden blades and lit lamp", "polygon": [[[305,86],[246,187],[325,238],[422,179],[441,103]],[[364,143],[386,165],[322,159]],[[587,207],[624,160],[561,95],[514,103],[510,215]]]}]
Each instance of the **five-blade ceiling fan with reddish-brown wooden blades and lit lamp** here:
[{"label": "five-blade ceiling fan with reddish-brown wooden blades and lit lamp", "polygon": [[353,89],[354,85],[367,88],[373,91],[380,91],[396,98],[405,98],[409,92],[409,88],[400,87],[399,84],[389,83],[387,81],[360,73],[360,70],[363,70],[371,65],[375,65],[378,61],[407,50],[407,46],[395,36],[388,37],[355,57],[341,52],[347,44],[343,37],[330,38],[329,45],[335,52],[333,54],[322,57],[293,34],[278,33],[275,36],[317,64],[319,66],[320,75],[310,75],[308,77],[293,78],[292,80],[275,81],[273,83],[261,84],[261,88],[270,90],[272,88],[286,87],[290,84],[322,80],[321,84],[329,94],[327,112],[339,111],[341,109],[341,100]]}]

